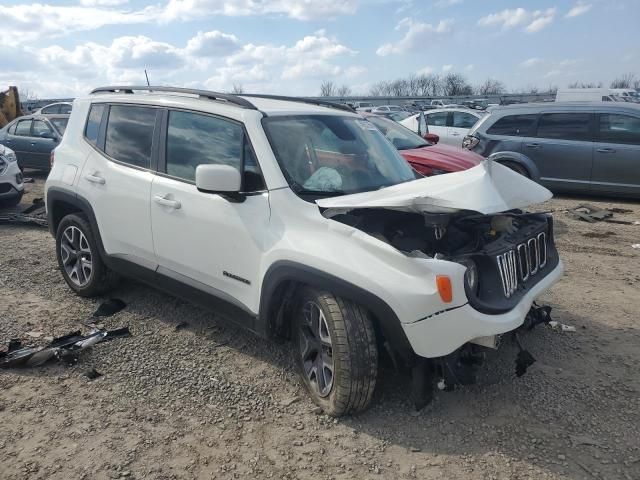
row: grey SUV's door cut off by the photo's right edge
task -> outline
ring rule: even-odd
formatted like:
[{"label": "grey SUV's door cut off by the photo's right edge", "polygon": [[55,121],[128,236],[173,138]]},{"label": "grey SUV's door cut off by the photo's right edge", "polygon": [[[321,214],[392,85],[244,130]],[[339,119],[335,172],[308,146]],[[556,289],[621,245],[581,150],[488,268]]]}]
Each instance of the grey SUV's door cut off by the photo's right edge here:
[{"label": "grey SUV's door cut off by the photo's right edge", "polygon": [[640,196],[640,116],[600,113],[597,117],[592,190]]}]

